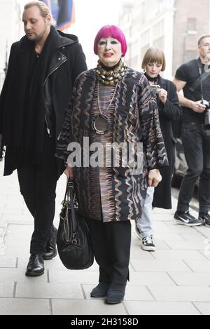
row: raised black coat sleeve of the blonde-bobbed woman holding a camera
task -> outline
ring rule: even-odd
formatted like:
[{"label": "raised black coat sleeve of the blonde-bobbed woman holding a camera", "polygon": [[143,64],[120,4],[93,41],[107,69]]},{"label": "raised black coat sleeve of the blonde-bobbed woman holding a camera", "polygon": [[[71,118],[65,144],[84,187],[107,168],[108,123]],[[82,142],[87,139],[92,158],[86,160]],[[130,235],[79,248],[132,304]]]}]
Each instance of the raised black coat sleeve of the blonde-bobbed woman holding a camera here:
[{"label": "raised black coat sleeve of the blonde-bobbed woman holding a camera", "polygon": [[160,115],[169,121],[179,121],[182,118],[182,109],[179,106],[179,98],[176,92],[176,86],[172,81],[167,81],[166,90],[168,92],[167,101],[163,104],[158,99]]}]

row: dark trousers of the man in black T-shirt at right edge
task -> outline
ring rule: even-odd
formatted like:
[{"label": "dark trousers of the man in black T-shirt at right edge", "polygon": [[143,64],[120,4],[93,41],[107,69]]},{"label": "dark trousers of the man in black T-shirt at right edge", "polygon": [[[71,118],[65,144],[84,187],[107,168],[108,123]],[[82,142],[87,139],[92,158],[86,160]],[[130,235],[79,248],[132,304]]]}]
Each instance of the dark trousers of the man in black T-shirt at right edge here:
[{"label": "dark trousers of the man in black T-shirt at right edge", "polygon": [[207,213],[210,208],[210,130],[195,123],[183,123],[182,141],[188,172],[181,184],[177,210],[188,210],[195,182],[200,177],[200,213]]}]

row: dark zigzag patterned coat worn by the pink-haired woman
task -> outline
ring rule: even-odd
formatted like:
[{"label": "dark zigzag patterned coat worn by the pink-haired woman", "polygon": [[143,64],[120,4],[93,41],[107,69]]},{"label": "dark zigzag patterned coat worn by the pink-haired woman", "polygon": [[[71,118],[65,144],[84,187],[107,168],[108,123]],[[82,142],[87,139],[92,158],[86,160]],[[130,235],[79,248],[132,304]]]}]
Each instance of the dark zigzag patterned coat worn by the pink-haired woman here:
[{"label": "dark zigzag patterned coat worn by the pink-haired woman", "polygon": [[[100,88],[103,86],[100,85]],[[107,87],[104,88],[107,90]],[[74,168],[80,215],[103,222],[141,217],[148,170],[168,165],[157,104],[146,76],[127,69],[116,90],[115,86],[110,88],[110,106],[106,115],[111,121],[111,129],[104,135],[98,135],[92,129],[92,119],[100,114],[96,70],[91,69],[78,76],[73,88],[73,100],[57,141],[56,153],[57,157],[66,161],[70,153],[67,150],[69,143],[77,142],[87,160],[92,152],[87,150],[88,145],[83,146],[83,137],[89,138],[89,146],[93,142],[103,145],[114,142],[117,145],[143,144],[142,166],[138,174],[132,172],[129,164],[122,165],[120,151],[119,166],[111,162],[109,167],[93,168],[83,162],[80,168]],[[111,100],[114,90],[115,97]]]}]

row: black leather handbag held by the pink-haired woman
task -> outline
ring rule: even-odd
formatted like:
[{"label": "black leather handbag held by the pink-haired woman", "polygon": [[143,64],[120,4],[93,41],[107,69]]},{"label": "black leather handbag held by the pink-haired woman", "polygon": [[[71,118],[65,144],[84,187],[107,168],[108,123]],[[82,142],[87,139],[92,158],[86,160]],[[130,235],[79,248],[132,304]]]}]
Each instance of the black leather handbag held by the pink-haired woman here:
[{"label": "black leather handbag held by the pink-haired woman", "polygon": [[94,257],[90,243],[89,229],[83,217],[78,215],[73,181],[68,180],[66,193],[59,214],[57,251],[67,269],[87,269]]}]

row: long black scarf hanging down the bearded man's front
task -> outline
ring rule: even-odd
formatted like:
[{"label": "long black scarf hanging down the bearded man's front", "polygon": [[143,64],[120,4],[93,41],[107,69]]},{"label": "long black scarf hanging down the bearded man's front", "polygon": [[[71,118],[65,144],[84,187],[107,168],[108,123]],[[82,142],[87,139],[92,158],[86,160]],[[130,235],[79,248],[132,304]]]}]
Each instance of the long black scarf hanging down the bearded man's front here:
[{"label": "long black scarf hanging down the bearded man's front", "polygon": [[8,168],[15,169],[22,163],[41,163],[45,129],[43,83],[48,63],[56,48],[55,34],[55,27],[51,27],[32,75],[29,72],[34,62],[35,45],[26,36],[22,39],[14,66],[16,72],[13,72],[17,107],[13,109],[10,140],[7,142]]}]

